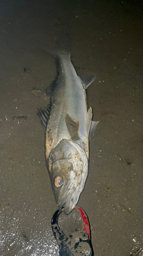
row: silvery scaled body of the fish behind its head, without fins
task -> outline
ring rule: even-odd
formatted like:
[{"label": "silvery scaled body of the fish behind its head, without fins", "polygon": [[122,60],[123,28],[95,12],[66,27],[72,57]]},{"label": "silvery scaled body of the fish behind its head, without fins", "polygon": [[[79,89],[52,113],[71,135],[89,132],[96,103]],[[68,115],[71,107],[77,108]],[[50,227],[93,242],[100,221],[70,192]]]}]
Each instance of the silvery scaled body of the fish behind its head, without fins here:
[{"label": "silvery scaled body of the fish behind its head, without fins", "polygon": [[[72,65],[70,55],[59,54],[58,59],[60,59],[59,78],[57,81],[56,89],[53,92],[52,96],[53,103],[51,106],[49,124],[47,129],[47,133],[50,129],[54,131],[53,143],[52,146],[49,145],[47,136],[46,157],[48,157],[51,149],[54,148],[56,144],[61,141],[61,139],[70,139],[70,135],[65,122],[66,113],[68,113],[75,121],[78,120],[80,122],[79,136],[84,136],[85,140],[85,119],[87,117],[87,105],[85,101],[86,99],[84,94],[84,88]],[[88,138],[86,138],[86,140],[88,143]]]}]

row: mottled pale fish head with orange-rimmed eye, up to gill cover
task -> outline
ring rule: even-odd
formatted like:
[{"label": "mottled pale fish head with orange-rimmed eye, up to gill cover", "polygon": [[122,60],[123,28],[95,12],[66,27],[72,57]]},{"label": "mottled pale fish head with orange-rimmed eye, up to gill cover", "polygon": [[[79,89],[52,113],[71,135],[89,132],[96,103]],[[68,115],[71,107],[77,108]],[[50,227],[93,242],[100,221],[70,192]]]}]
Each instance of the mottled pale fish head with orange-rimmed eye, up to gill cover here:
[{"label": "mottled pale fish head with orange-rimmed eye, up to gill cover", "polygon": [[48,169],[55,201],[59,208],[64,206],[68,215],[78,202],[87,179],[87,155],[74,141],[62,139],[49,155]]}]

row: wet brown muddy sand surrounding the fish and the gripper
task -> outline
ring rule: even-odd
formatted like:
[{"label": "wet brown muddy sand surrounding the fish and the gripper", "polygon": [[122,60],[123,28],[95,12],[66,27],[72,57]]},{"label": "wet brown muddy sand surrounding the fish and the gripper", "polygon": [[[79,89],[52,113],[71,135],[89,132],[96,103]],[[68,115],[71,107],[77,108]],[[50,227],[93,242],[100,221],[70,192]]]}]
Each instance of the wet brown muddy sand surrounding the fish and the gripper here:
[{"label": "wet brown muddy sand surrounding the fish and the gripper", "polygon": [[[54,79],[48,52],[68,32],[77,73],[97,75],[87,98],[100,121],[78,205],[89,217],[94,255],[129,256],[143,244],[141,1],[13,0],[1,3],[0,14],[0,254],[59,255],[50,224],[57,206],[37,117],[47,102],[31,90]],[[61,218],[71,230],[70,217]]]}]

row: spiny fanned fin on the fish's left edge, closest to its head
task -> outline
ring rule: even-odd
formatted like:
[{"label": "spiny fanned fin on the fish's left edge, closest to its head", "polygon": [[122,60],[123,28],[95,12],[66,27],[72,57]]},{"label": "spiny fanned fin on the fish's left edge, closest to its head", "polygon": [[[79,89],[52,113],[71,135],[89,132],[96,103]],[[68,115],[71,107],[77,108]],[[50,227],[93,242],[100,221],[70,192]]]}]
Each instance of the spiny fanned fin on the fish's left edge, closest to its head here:
[{"label": "spiny fanned fin on the fish's left edge, closest to its head", "polygon": [[48,124],[48,121],[49,121],[50,109],[51,109],[51,103],[43,110],[38,109],[38,112],[37,112],[40,123],[42,124],[43,130],[44,130],[44,133],[46,133],[46,130],[47,130],[47,124]]}]

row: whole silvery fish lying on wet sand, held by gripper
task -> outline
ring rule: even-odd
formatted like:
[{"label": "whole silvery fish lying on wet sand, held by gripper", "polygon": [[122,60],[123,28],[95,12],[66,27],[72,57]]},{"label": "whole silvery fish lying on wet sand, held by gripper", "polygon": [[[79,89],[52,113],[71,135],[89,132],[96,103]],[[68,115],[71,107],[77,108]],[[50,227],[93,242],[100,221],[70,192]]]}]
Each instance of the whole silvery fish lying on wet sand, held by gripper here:
[{"label": "whole silvery fish lying on wet sand, held by gripper", "polygon": [[89,139],[98,121],[92,121],[85,90],[95,74],[78,76],[69,52],[55,56],[57,75],[45,93],[49,104],[38,109],[45,134],[45,160],[59,208],[70,214],[79,200],[89,170]]}]

